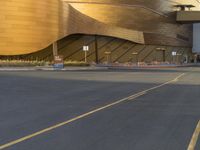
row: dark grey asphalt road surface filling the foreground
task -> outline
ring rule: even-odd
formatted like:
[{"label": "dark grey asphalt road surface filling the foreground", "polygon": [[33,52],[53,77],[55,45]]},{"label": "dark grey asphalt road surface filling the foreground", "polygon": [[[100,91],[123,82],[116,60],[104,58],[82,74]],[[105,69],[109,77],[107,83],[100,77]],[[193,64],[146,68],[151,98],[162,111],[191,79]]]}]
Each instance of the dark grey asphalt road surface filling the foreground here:
[{"label": "dark grey asphalt road surface filling the foreground", "polygon": [[200,120],[200,68],[0,72],[0,85],[0,149],[186,150]]}]

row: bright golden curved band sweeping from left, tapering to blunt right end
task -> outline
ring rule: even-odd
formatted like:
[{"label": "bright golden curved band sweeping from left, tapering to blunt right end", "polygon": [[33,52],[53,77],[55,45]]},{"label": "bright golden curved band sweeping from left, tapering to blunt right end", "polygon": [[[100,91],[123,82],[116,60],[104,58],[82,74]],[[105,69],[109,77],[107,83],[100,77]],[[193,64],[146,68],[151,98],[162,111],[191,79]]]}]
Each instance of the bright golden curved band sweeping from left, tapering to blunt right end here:
[{"label": "bright golden curved band sweeping from left, tapering to blunt right end", "polygon": [[[7,3],[2,16],[0,30],[0,55],[20,55],[39,51],[53,42],[71,34],[98,34],[126,39],[144,44],[143,32],[110,26],[92,19],[70,4],[61,1],[27,1],[22,0],[24,10],[19,11],[22,3]],[[36,5],[45,8],[35,11]],[[3,6],[3,4],[1,5]],[[14,9],[15,8],[15,9]],[[42,11],[42,12],[41,12]],[[47,18],[48,16],[48,18]]]}]

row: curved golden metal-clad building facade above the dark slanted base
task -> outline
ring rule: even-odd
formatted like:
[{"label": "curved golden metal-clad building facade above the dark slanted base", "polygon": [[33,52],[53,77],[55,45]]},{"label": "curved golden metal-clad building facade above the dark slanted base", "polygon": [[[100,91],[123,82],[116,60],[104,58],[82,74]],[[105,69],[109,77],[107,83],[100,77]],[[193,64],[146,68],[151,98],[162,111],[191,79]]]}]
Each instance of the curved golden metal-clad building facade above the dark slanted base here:
[{"label": "curved golden metal-clad building facade above the dark slanted base", "polygon": [[90,34],[138,44],[192,46],[192,25],[177,4],[196,0],[9,0],[0,2],[0,55],[37,52],[66,36]]}]

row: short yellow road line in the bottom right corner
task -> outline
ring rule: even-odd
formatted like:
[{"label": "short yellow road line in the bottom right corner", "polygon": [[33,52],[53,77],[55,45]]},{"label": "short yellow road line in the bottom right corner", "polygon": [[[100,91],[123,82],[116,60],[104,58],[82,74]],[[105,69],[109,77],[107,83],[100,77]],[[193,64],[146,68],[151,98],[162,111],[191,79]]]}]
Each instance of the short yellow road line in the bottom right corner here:
[{"label": "short yellow road line in the bottom right corner", "polygon": [[200,134],[200,120],[197,124],[197,127],[192,135],[192,139],[190,141],[190,144],[188,146],[188,149],[187,150],[195,150],[195,146],[197,144],[197,140],[198,140],[198,137],[199,137],[199,134]]}]

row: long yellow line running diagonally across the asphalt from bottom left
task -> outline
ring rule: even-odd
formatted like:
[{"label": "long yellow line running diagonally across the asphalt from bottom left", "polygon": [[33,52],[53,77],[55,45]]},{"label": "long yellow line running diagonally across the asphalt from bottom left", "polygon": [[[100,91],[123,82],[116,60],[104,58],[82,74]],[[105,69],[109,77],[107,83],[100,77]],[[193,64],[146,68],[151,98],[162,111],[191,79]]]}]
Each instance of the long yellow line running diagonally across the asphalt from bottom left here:
[{"label": "long yellow line running diagonally across the asphalt from bottom left", "polygon": [[122,103],[122,102],[125,102],[125,101],[129,101],[129,100],[134,100],[134,99],[136,99],[136,98],[138,98],[138,97],[140,97],[140,96],[142,96],[142,95],[145,95],[145,94],[146,94],[147,92],[149,92],[149,91],[158,89],[158,88],[160,88],[160,87],[162,87],[162,86],[164,86],[164,85],[167,85],[167,84],[170,84],[170,83],[173,83],[173,82],[177,82],[178,79],[180,79],[180,78],[181,78],[182,76],[184,76],[184,75],[185,75],[185,73],[183,73],[183,74],[177,76],[175,79],[173,79],[173,80],[171,80],[171,81],[168,81],[168,82],[165,82],[165,83],[163,83],[163,84],[161,84],[161,85],[158,85],[158,86],[149,88],[149,89],[147,89],[147,90],[141,91],[141,92],[136,93],[136,94],[134,94],[134,95],[131,95],[131,96],[129,96],[129,97],[120,99],[120,100],[118,100],[118,101],[116,101],[116,102],[110,103],[110,104],[105,105],[105,106],[103,106],[103,107],[99,107],[99,108],[97,108],[97,109],[94,109],[94,110],[92,110],[92,111],[90,111],[90,112],[84,113],[84,114],[82,114],[82,115],[80,115],[80,116],[77,116],[77,117],[75,117],[75,118],[72,118],[72,119],[70,119],[70,120],[67,120],[67,121],[58,123],[58,124],[56,124],[56,125],[53,125],[53,126],[48,127],[48,128],[46,128],[46,129],[40,130],[40,131],[35,132],[35,133],[33,133],[33,134],[30,134],[30,135],[24,136],[24,137],[22,137],[22,138],[19,138],[19,139],[17,139],[17,140],[14,140],[14,141],[8,142],[8,143],[6,143],[6,144],[0,145],[0,150],[5,149],[5,148],[8,148],[8,147],[13,146],[13,145],[16,145],[16,144],[18,144],[18,143],[21,143],[21,142],[23,142],[23,141],[26,141],[26,140],[28,140],[28,139],[31,139],[31,138],[36,137],[36,136],[38,136],[38,135],[41,135],[41,134],[43,134],[43,133],[49,132],[49,131],[54,130],[54,129],[56,129],[56,128],[59,128],[59,127],[61,127],[61,126],[67,125],[67,124],[69,124],[69,123],[71,123],[71,122],[74,122],[74,121],[77,121],[77,120],[79,120],[79,119],[85,118],[85,117],[87,117],[87,116],[89,116],[89,115],[92,115],[92,114],[94,114],[94,113],[96,113],[96,112],[99,112],[99,111],[104,110],[104,109],[106,109],[106,108],[109,108],[109,107],[112,107],[112,106],[114,106],[114,105],[117,105],[117,104],[119,104],[119,103]]}]

